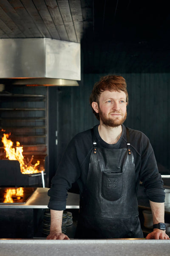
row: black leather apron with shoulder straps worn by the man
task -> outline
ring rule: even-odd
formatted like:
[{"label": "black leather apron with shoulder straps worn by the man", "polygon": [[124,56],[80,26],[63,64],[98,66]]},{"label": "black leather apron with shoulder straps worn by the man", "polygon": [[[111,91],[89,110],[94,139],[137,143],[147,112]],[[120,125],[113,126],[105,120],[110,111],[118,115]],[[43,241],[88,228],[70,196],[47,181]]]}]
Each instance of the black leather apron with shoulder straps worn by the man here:
[{"label": "black leather apron with shoulder straps worn by the man", "polygon": [[93,129],[92,137],[75,238],[142,238],[128,128],[127,148],[98,148]]}]

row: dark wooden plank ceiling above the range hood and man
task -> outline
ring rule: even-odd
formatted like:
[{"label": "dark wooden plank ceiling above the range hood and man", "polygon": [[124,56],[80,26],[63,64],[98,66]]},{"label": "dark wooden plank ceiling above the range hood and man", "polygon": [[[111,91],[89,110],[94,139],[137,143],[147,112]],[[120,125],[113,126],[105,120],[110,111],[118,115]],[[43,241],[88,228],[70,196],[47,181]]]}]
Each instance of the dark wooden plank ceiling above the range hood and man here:
[{"label": "dark wooden plank ceiling above the range hood and man", "polygon": [[85,73],[169,73],[169,28],[164,0],[0,0],[0,38],[80,42]]}]

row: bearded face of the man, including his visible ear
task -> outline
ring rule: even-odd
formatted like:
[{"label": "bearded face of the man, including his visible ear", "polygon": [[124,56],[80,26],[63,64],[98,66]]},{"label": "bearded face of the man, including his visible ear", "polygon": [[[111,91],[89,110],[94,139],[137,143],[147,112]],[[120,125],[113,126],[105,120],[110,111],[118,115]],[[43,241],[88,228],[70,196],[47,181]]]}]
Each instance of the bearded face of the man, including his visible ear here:
[{"label": "bearded face of the man, including his visible ear", "polygon": [[[96,103],[97,104],[97,103]],[[105,90],[99,98],[99,105],[94,109],[100,116],[100,123],[106,126],[117,127],[126,120],[126,94],[121,91]]]}]

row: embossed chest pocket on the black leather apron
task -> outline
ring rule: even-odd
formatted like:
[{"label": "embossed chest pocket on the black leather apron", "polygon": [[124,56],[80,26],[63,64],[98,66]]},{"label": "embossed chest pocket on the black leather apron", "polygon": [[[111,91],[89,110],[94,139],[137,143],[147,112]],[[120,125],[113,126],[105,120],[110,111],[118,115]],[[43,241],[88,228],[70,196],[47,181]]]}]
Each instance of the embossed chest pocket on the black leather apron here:
[{"label": "embossed chest pocket on the black leather apron", "polygon": [[116,201],[122,196],[123,173],[102,172],[102,197]]}]

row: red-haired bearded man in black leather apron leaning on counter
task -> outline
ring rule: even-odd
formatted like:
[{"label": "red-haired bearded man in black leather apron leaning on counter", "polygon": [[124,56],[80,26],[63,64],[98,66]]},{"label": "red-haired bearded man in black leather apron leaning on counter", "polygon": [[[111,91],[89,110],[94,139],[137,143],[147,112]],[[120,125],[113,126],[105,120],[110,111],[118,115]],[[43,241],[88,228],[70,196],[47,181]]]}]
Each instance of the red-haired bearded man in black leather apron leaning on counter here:
[{"label": "red-haired bearded man in black leather apron leaning on counter", "polygon": [[153,149],[142,132],[123,125],[128,104],[125,79],[102,77],[94,85],[90,103],[100,124],[71,140],[52,179],[47,239],[69,239],[61,231],[62,211],[67,191],[75,181],[80,190],[75,238],[142,238],[139,180],[150,199],[153,224],[158,224],[147,239],[169,239],[160,229],[164,229],[164,189]]}]

